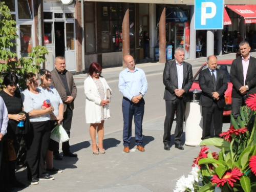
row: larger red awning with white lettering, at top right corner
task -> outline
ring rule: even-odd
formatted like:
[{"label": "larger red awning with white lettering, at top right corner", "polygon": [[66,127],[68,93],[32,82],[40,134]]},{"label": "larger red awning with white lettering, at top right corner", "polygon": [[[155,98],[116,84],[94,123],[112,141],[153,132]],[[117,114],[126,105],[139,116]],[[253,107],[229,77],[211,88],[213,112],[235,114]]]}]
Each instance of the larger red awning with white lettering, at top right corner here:
[{"label": "larger red awning with white lettering, at top right corner", "polygon": [[227,5],[227,7],[245,19],[256,18],[255,5]]}]

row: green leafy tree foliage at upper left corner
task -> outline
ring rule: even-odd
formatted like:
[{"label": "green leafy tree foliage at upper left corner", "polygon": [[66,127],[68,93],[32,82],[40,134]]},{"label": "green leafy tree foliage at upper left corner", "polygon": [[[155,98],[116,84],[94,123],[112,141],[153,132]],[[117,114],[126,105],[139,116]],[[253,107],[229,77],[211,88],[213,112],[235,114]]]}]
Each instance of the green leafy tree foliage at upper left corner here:
[{"label": "green leafy tree foliage at upper left corner", "polygon": [[[22,57],[19,60],[11,59],[17,57],[16,53],[12,53],[10,48],[16,46],[12,41],[17,38],[17,28],[15,20],[12,19],[10,9],[4,2],[0,2],[0,76],[12,72],[19,77],[19,87],[25,87],[23,75],[29,72],[38,73],[41,62],[45,62],[45,54],[49,54],[44,46],[33,48],[29,57]],[[9,59],[9,60],[8,60]],[[0,78],[0,83],[3,79]]]}]

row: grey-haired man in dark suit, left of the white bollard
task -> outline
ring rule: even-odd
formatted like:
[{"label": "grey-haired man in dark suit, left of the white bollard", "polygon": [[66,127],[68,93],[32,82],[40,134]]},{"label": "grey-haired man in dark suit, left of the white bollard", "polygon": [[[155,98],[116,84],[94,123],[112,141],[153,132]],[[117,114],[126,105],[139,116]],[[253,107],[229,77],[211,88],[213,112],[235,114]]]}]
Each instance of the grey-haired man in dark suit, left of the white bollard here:
[{"label": "grey-haired man in dark suit, left of the white bollard", "polygon": [[175,147],[184,150],[181,144],[183,133],[183,120],[186,110],[186,102],[189,101],[189,89],[193,83],[192,66],[184,62],[185,52],[183,48],[175,50],[175,60],[167,61],[163,71],[163,84],[165,86],[164,97],[166,116],[164,120],[163,143],[164,150],[170,150],[170,131],[172,129],[176,112]]}]

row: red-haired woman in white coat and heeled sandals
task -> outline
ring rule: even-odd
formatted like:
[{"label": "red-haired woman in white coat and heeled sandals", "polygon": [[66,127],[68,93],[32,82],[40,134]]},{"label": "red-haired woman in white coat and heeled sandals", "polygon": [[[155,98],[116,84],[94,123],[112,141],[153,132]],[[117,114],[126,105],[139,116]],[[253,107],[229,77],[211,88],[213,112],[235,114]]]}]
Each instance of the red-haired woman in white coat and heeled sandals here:
[{"label": "red-haired woman in white coat and heeled sandals", "polygon": [[[110,98],[107,98],[108,89],[111,89],[106,80],[101,76],[102,68],[93,62],[88,70],[88,78],[84,80],[84,94],[86,94],[86,123],[90,123],[90,136],[92,139],[93,154],[104,154],[103,136],[104,120],[110,118]],[[96,144],[96,131],[98,143]]]}]

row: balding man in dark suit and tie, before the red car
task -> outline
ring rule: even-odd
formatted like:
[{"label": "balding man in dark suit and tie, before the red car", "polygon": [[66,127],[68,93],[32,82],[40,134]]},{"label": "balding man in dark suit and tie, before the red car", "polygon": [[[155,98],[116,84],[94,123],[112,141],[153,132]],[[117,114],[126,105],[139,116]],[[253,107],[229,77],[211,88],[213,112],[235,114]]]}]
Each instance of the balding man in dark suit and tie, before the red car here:
[{"label": "balding man in dark suit and tie, before the red car", "polygon": [[199,86],[202,90],[199,104],[203,108],[202,139],[210,138],[212,115],[214,116],[215,137],[220,137],[225,106],[224,93],[227,90],[226,72],[217,69],[217,57],[208,56],[207,64],[209,68],[199,74]]}]

